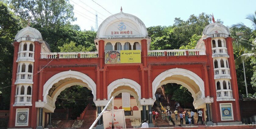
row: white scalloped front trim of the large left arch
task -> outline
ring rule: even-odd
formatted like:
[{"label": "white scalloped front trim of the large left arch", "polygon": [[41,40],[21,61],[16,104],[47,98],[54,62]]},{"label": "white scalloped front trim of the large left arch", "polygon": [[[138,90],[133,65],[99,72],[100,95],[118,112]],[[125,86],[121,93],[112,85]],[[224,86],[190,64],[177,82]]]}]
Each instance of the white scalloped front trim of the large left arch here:
[{"label": "white scalloped front trim of the large left arch", "polygon": [[55,74],[44,84],[44,90],[43,90],[44,102],[47,103],[47,95],[49,90],[52,88],[53,84],[68,77],[76,78],[86,83],[90,88],[90,90],[92,91],[93,100],[96,100],[96,84],[94,83],[94,81],[84,73],[69,70],[69,71],[64,71],[64,72]]}]

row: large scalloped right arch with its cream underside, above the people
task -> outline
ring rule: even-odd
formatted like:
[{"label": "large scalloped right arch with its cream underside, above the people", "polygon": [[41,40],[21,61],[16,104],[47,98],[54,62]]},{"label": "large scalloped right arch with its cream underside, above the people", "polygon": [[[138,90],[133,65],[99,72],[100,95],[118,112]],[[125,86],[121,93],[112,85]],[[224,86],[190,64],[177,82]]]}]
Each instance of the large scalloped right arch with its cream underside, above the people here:
[{"label": "large scalloped right arch with its cream underside, above the people", "polygon": [[174,68],[160,73],[152,83],[152,95],[155,98],[157,88],[167,83],[177,83],[186,87],[194,98],[194,107],[201,105],[204,95],[204,81],[194,72],[181,68]]}]

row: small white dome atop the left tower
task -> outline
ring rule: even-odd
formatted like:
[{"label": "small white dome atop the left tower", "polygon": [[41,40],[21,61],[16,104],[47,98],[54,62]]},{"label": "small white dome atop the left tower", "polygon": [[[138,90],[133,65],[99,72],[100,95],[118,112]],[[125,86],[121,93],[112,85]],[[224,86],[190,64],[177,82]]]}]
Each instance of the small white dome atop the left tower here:
[{"label": "small white dome atop the left tower", "polygon": [[20,39],[21,37],[30,37],[34,39],[43,39],[41,33],[30,26],[27,26],[23,29],[21,29],[15,36],[15,40]]}]

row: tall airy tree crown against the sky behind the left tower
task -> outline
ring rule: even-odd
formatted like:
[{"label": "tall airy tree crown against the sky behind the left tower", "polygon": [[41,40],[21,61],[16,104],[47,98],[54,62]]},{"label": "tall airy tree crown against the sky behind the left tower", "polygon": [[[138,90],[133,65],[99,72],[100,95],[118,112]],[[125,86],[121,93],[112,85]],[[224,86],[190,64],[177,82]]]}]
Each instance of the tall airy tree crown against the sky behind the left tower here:
[{"label": "tall airy tree crown against the sky behind the left tower", "polygon": [[11,0],[10,7],[24,21],[52,30],[76,20],[69,0]]}]

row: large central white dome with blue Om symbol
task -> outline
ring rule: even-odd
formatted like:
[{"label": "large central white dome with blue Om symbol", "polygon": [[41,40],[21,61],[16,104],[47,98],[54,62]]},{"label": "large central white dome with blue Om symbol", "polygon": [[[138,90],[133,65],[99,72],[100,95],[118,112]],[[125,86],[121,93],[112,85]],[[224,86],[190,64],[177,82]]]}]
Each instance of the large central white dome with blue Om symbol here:
[{"label": "large central white dome with blue Om symbol", "polygon": [[147,36],[147,28],[138,17],[120,12],[109,16],[101,23],[97,31],[96,38],[129,38]]}]

